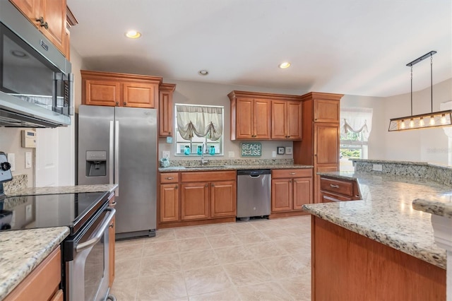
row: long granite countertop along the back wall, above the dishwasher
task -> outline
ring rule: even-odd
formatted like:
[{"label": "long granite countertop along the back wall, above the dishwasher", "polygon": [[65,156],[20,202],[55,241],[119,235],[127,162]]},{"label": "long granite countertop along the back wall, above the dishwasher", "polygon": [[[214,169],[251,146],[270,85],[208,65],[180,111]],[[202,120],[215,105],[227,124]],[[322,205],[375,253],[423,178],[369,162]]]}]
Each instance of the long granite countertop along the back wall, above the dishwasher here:
[{"label": "long granite countertop along the back wall, above the dishwasher", "polygon": [[202,170],[281,170],[281,169],[299,169],[299,168],[312,168],[312,165],[298,165],[298,164],[264,164],[264,165],[204,165],[204,166],[172,166],[172,167],[160,167],[159,172],[190,172],[190,171],[202,171]]}]

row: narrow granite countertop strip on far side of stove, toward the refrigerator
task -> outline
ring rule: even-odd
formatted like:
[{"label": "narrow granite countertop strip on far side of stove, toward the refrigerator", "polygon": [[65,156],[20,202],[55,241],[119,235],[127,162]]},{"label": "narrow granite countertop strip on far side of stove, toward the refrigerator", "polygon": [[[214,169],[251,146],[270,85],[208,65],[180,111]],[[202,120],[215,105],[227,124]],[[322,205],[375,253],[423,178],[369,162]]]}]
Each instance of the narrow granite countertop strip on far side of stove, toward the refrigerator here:
[{"label": "narrow granite countertop strip on far side of stove, toward the refrigerator", "polygon": [[35,196],[40,194],[72,194],[83,192],[102,192],[114,191],[118,184],[97,184],[97,185],[76,185],[76,186],[58,186],[58,187],[30,187],[13,191],[7,196]]}]

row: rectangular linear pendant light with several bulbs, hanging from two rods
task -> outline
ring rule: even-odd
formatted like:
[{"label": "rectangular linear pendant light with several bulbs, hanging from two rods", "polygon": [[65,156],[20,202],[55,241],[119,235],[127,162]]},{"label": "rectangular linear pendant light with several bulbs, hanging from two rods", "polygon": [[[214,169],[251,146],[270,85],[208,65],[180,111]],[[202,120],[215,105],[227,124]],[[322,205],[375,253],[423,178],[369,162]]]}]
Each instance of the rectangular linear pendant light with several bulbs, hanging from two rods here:
[{"label": "rectangular linear pendant light with several bulbs, hanging from two rods", "polygon": [[[452,125],[452,110],[433,112],[433,54],[436,51],[431,51],[424,54],[422,57],[410,61],[407,66],[411,67],[411,115],[406,117],[393,118],[389,122],[388,131],[405,131],[408,129],[429,129],[438,126]],[[430,57],[430,85],[431,85],[431,111],[430,113],[413,115],[412,114],[412,66],[420,61]]]}]

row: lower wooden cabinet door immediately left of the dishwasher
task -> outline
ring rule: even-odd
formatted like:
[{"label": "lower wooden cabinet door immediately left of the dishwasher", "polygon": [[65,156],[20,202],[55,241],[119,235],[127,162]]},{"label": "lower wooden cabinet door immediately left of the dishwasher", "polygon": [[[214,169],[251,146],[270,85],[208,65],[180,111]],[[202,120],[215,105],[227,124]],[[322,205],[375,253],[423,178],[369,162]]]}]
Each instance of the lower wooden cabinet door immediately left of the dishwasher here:
[{"label": "lower wooden cabinet door immediately left of the dishwasher", "polygon": [[210,184],[210,217],[237,216],[237,183],[235,181]]}]

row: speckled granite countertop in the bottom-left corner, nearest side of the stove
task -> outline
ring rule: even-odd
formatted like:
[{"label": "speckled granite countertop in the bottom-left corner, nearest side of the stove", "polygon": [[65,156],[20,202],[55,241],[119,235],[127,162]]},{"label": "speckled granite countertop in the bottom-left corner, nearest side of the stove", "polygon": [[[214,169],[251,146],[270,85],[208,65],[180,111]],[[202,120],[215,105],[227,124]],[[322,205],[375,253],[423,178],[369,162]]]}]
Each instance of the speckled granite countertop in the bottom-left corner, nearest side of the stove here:
[{"label": "speckled granite countertop in the bottom-left corner, nearest side of the stove", "polygon": [[69,228],[0,232],[0,300],[69,235]]}]

